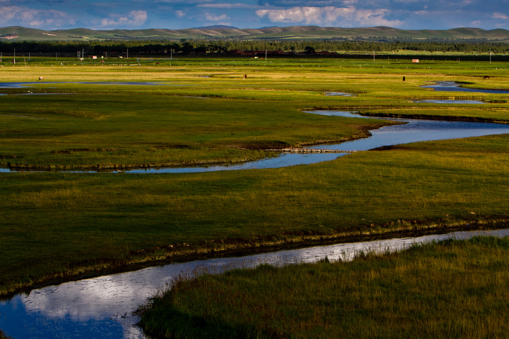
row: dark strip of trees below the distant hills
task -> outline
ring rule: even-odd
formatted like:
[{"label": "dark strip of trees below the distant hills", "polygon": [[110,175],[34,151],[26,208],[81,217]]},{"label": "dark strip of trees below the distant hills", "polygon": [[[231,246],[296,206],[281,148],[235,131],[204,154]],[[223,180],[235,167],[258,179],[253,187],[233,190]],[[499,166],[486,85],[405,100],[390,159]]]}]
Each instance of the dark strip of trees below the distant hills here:
[{"label": "dark strip of trees below the distant hills", "polygon": [[14,50],[22,53],[67,53],[76,54],[83,51],[87,54],[225,54],[232,49],[241,50],[284,50],[304,51],[306,47],[322,51],[357,51],[387,52],[397,50],[413,50],[421,52],[464,52],[464,53],[509,53],[509,44],[503,42],[430,42],[430,41],[355,41],[355,40],[204,40],[181,39],[168,40],[101,40],[101,41],[21,41],[0,42],[0,52],[11,54]]}]

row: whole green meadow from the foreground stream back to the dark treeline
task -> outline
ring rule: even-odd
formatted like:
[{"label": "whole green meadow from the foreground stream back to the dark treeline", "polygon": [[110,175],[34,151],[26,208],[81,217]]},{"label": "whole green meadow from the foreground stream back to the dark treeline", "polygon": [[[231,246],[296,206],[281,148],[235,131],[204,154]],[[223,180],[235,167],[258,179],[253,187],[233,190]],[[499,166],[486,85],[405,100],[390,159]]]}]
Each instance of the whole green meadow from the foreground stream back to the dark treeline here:
[{"label": "whole green meadow from the foreground stream back to the dark treeline", "polygon": [[[509,89],[506,63],[449,59],[4,60],[0,82],[32,84],[0,89],[0,166],[20,171],[0,173],[0,293],[232,251],[502,227],[508,135],[266,170],[122,173],[256,160],[392,123],[309,109],[507,123],[507,95],[419,87]],[[486,104],[411,101],[450,97]],[[70,172],[81,170],[99,173]]]}]

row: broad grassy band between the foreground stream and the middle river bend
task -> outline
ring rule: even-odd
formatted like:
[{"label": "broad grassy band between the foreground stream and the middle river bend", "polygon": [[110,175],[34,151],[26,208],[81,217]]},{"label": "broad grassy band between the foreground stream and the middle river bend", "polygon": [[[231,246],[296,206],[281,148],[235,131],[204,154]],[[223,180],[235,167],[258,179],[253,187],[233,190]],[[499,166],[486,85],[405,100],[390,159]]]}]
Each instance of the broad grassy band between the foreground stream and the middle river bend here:
[{"label": "broad grassy band between the foreground stream and the middle river bend", "polygon": [[211,250],[507,220],[507,136],[270,170],[3,175],[3,292]]}]

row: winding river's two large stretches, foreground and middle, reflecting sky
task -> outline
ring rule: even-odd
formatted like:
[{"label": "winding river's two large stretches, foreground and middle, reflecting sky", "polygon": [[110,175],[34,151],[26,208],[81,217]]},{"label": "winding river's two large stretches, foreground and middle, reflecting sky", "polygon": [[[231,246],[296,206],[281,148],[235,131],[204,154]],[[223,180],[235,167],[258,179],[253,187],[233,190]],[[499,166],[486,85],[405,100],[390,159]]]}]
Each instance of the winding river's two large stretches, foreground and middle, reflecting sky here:
[{"label": "winding river's two large stretches, foreground and middle, reflecting sky", "polygon": [[[314,111],[310,113],[359,117],[353,112]],[[385,120],[388,120],[384,118]],[[315,148],[344,151],[364,151],[380,146],[411,142],[509,133],[509,125],[397,119],[406,124],[385,126],[371,131],[369,138]],[[187,168],[133,170],[129,173],[178,173],[272,168],[315,163],[336,159],[347,153],[281,154],[279,157],[232,165]],[[9,172],[4,169],[3,172]],[[0,301],[0,328],[18,338],[144,338],[132,315],[157,289],[182,271],[208,268],[222,271],[233,267],[252,267],[260,263],[283,265],[295,262],[315,262],[325,257],[331,260],[351,260],[363,249],[399,250],[412,243],[441,240],[448,237],[470,238],[475,235],[507,236],[509,230],[455,232],[387,240],[343,243],[326,246],[282,250],[237,258],[219,258],[187,263],[149,267],[137,271],[103,275],[90,279],[48,286],[30,293],[15,295]]]}]

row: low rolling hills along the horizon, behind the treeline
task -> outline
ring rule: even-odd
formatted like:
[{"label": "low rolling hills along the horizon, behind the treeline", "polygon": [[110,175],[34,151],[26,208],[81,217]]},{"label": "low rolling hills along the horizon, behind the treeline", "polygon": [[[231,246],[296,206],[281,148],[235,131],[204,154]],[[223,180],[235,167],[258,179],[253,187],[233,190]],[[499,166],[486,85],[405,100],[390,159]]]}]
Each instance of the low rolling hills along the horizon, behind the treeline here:
[{"label": "low rolling hills along the horizon, behind the treeline", "polygon": [[184,30],[56,30],[43,31],[26,27],[0,28],[0,41],[41,41],[41,40],[178,40],[178,39],[419,39],[419,40],[488,40],[509,42],[509,31],[502,29],[483,30],[458,28],[451,30],[400,30],[392,27],[340,28],[319,26],[263,27],[260,29],[238,29],[232,26],[206,26]]}]

